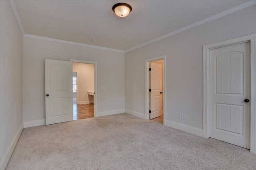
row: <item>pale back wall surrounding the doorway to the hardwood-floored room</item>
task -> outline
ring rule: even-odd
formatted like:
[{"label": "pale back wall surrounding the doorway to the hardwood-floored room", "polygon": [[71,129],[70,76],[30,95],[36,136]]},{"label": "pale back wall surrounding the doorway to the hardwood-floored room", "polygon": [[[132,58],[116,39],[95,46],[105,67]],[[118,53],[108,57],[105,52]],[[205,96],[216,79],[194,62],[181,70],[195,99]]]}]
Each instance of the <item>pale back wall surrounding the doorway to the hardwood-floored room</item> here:
[{"label": "pale back wall surrounding the doorway to the hardwood-floored room", "polygon": [[124,53],[24,37],[24,126],[45,119],[45,59],[98,62],[98,113],[124,109]]}]

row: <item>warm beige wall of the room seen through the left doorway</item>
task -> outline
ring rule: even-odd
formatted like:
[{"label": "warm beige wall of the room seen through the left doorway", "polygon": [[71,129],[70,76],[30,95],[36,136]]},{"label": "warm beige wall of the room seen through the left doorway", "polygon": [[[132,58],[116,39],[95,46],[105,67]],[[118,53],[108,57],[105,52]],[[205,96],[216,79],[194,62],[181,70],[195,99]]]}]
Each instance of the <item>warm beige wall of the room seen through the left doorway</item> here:
[{"label": "warm beige wall of the room seen through the left doorway", "polygon": [[77,72],[77,104],[93,103],[94,64],[73,63],[73,72]]}]

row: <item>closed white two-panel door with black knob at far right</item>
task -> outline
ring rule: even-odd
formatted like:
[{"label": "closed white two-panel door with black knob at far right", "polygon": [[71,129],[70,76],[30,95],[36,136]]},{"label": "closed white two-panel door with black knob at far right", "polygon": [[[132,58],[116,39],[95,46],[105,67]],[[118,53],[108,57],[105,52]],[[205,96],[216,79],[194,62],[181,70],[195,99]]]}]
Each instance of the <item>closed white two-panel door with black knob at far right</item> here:
[{"label": "closed white two-panel door with black knob at far right", "polygon": [[250,43],[210,50],[210,137],[250,147]]}]

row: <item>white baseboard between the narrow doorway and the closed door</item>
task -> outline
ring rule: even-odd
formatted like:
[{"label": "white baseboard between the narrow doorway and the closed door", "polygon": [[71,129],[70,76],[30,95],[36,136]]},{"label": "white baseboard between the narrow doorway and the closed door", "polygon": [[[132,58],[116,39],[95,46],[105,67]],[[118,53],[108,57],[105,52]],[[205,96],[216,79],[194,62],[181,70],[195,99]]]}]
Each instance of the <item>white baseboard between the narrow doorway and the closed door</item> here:
[{"label": "white baseboard between the narrow doorway and the closed door", "polygon": [[199,129],[199,128],[196,128],[196,127],[184,125],[184,124],[177,123],[177,122],[174,122],[174,121],[169,121],[169,120],[165,121],[165,125],[168,126],[168,127],[172,127],[174,129],[178,129],[180,131],[184,131],[184,132],[187,132],[187,133],[191,133],[193,135],[203,137],[203,129]]}]

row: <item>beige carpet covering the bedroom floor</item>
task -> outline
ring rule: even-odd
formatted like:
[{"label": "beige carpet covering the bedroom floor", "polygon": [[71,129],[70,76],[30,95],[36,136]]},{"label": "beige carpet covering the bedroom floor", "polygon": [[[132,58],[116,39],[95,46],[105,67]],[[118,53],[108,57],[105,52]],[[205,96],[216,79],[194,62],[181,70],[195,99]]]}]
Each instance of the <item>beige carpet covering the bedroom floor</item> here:
[{"label": "beige carpet covering the bedroom floor", "polygon": [[256,155],[122,113],[25,128],[6,169],[256,169]]}]

